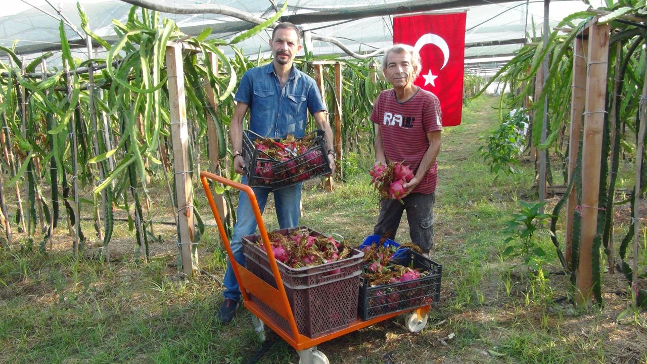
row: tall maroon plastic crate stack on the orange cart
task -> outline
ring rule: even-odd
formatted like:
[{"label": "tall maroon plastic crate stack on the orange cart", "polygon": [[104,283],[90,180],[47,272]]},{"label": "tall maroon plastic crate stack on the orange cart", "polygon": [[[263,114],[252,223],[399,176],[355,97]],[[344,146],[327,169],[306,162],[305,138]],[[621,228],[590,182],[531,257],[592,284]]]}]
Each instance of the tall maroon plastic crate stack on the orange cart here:
[{"label": "tall maroon plastic crate stack on the orange cart", "polygon": [[[275,233],[287,235],[295,229],[303,228],[305,227],[291,227]],[[312,229],[308,231],[313,235],[321,235]],[[267,253],[258,245],[252,244],[260,242],[260,239],[260,235],[243,237],[245,267],[276,288]],[[300,334],[311,338],[319,337],[345,328],[355,321],[362,258],[364,253],[353,249],[353,253],[348,258],[320,266],[292,268],[276,261]],[[261,310],[281,328],[290,331],[287,321],[272,308],[253,295],[252,300],[256,301]]]}]

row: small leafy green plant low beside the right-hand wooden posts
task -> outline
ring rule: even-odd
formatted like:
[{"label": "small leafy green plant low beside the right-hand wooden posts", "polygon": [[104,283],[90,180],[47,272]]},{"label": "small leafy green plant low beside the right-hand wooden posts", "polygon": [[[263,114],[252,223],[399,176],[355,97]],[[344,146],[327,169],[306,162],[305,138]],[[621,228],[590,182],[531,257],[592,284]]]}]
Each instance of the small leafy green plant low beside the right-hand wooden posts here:
[{"label": "small leafy green plant low beside the right-hand wooden posts", "polygon": [[520,256],[529,269],[539,269],[547,258],[546,252],[536,244],[537,234],[552,234],[548,228],[551,214],[542,212],[545,203],[520,201],[521,210],[512,215],[504,230],[510,236],[505,240],[504,257]]}]

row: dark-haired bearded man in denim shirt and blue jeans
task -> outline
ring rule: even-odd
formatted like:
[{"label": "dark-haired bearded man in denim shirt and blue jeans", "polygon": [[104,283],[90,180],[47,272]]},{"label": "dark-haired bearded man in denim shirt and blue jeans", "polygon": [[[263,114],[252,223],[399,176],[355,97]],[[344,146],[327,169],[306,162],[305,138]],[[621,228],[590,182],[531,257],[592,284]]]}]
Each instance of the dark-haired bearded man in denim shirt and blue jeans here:
[{"label": "dark-haired bearded man in denim shirt and blue jeans", "polygon": [[[285,138],[292,134],[296,138],[305,134],[307,112],[314,117],[318,128],[325,131],[326,146],[334,172],[333,133],[328,124],[325,106],[313,78],[294,67],[292,61],[301,51],[300,30],[292,23],[280,23],[272,31],[270,47],[272,63],[248,70],[241,79],[236,93],[236,109],[231,123],[232,146],[234,148],[234,169],[243,174],[245,161],[241,155],[243,144],[243,117],[251,109],[249,129],[270,138]],[[247,184],[247,177],[242,182]],[[263,212],[270,192],[274,192],[274,205],[279,227],[299,225],[301,183],[272,190],[254,187],[258,206]],[[237,221],[234,226],[231,247],[236,262],[245,264],[241,238],[256,231],[256,219],[247,194],[241,192],[238,199]],[[225,272],[225,301],[216,315],[218,323],[229,323],[234,319],[241,292],[230,262]]]}]

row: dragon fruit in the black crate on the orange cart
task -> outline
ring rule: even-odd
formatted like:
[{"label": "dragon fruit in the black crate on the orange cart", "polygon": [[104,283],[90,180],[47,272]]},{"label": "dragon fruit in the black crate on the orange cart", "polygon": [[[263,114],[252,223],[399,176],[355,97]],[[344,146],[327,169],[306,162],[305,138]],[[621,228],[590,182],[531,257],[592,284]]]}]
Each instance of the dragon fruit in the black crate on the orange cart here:
[{"label": "dragon fruit in the black crate on the orange cart", "polygon": [[[400,245],[402,247],[403,245]],[[388,311],[428,304],[433,301],[428,287],[421,284],[426,272],[396,264],[393,261],[395,247],[373,244],[364,247],[364,271],[369,284],[368,310],[373,316]],[[411,249],[411,248],[410,248]],[[410,282],[404,284],[404,282]]]}]

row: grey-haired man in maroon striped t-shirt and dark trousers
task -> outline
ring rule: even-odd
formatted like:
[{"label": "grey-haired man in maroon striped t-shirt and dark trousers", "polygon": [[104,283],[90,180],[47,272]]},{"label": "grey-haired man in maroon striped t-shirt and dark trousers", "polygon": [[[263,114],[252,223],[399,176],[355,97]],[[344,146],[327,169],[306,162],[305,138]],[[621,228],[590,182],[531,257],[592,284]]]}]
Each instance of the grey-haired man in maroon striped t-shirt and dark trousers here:
[{"label": "grey-haired man in maroon striped t-shirt and dark trousers", "polygon": [[384,55],[382,73],[393,89],[375,101],[375,163],[401,162],[415,176],[404,184],[406,196],[380,201],[374,233],[395,240],[406,210],[411,242],[425,255],[433,245],[433,204],[437,183],[436,157],[441,148],[442,113],[438,98],[413,84],[421,71],[420,55],[410,45],[396,44]]}]

